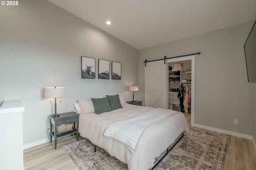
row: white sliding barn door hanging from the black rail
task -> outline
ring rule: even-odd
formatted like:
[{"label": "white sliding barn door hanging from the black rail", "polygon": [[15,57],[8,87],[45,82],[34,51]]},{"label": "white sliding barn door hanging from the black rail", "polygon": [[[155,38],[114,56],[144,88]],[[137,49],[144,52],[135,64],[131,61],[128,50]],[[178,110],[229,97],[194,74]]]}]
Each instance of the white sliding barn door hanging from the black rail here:
[{"label": "white sliding barn door hanging from the black rail", "polygon": [[145,106],[167,108],[166,65],[163,60],[146,63]]}]

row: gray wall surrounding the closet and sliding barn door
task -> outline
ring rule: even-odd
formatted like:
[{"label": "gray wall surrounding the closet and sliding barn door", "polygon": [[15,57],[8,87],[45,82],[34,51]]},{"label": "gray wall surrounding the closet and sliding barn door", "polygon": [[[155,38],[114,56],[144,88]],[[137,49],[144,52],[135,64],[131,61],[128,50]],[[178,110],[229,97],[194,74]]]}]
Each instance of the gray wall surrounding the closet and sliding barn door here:
[{"label": "gray wall surrounding the closet and sliding barn door", "polygon": [[[253,135],[255,83],[248,83],[243,45],[253,22],[172,41],[139,51],[139,88],[145,59],[201,52],[195,59],[196,124]],[[144,94],[140,93],[140,98]],[[238,119],[239,125],[234,125]],[[255,120],[255,118],[254,118]]]}]

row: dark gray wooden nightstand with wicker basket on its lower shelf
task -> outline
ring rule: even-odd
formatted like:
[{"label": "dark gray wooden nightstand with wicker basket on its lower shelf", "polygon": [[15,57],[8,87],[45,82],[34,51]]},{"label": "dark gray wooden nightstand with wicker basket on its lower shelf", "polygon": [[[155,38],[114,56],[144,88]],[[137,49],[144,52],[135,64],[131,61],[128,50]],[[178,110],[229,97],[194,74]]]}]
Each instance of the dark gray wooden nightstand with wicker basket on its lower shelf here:
[{"label": "dark gray wooden nightstand with wicker basket on its lower shelf", "polygon": [[[71,111],[68,113],[61,113],[60,116],[58,117],[52,117],[51,115],[49,115],[49,118],[50,118],[50,141],[52,143],[52,137],[54,137],[55,149],[57,148],[57,139],[60,137],[64,137],[70,134],[73,135],[74,133],[76,133],[76,140],[77,141],[79,140],[78,139],[79,138],[79,134],[78,134],[79,114],[78,113]],[[75,127],[75,122],[76,122],[76,127]],[[73,123],[72,129],[69,131],[58,133],[57,126],[63,125],[66,123]],[[52,126],[54,126],[54,129]]]}]

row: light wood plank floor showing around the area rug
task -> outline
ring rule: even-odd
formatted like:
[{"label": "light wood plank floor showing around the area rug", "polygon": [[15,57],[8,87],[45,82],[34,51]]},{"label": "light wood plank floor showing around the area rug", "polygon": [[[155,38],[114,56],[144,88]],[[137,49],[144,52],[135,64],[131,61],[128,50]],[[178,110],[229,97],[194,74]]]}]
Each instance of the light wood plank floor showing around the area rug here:
[{"label": "light wood plank floor showing around the area rug", "polygon": [[[190,114],[184,115],[191,125]],[[50,142],[24,150],[25,170],[78,170],[62,148],[75,141],[76,136],[64,137],[57,142],[56,150]],[[256,150],[252,140],[231,136],[224,170],[256,170]]]}]

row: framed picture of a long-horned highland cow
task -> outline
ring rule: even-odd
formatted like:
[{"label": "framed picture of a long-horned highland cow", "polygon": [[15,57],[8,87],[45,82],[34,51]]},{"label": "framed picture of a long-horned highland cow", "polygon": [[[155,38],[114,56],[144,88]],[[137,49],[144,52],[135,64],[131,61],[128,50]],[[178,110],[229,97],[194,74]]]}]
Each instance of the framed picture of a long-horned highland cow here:
[{"label": "framed picture of a long-horned highland cow", "polygon": [[81,57],[82,78],[95,79],[95,59],[90,57]]}]

